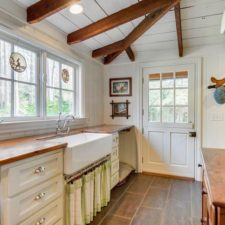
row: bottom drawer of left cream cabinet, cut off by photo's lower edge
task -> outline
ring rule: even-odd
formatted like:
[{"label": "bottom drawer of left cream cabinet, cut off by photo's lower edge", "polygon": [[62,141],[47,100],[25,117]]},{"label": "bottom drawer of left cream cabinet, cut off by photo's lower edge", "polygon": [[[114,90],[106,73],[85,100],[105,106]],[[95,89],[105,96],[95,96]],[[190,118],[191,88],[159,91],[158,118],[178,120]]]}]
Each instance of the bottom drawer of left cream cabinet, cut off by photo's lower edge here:
[{"label": "bottom drawer of left cream cabinet, cut off by photo's lower edge", "polygon": [[59,198],[19,225],[55,225],[62,217],[63,201]]}]

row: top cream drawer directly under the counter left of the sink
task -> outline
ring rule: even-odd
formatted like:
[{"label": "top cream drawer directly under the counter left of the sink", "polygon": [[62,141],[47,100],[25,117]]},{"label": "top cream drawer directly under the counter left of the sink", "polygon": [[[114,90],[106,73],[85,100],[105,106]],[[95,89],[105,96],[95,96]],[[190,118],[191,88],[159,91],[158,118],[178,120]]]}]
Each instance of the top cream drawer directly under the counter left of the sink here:
[{"label": "top cream drawer directly under the counter left of the sink", "polygon": [[14,196],[63,173],[63,152],[33,157],[8,168],[8,196]]}]

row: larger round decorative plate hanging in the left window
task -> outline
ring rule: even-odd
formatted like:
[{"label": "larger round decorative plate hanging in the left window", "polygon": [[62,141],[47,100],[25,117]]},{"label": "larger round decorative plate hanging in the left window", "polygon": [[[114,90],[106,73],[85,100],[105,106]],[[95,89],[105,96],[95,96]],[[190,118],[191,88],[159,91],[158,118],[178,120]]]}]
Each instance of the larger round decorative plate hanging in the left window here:
[{"label": "larger round decorative plate hanging in the left window", "polygon": [[10,55],[9,63],[11,68],[18,73],[23,73],[27,68],[26,59],[18,52],[13,52]]}]

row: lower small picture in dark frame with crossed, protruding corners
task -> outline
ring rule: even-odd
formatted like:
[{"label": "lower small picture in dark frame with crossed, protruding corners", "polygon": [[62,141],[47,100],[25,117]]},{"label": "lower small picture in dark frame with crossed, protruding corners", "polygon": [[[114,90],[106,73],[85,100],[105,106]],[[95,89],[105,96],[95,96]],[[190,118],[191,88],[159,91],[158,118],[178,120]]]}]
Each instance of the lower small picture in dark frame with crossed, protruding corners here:
[{"label": "lower small picture in dark frame with crossed, protruding corners", "polygon": [[125,102],[114,102],[110,103],[112,105],[112,115],[111,117],[126,117],[127,119],[130,117],[128,113],[128,106],[130,102],[127,100]]}]

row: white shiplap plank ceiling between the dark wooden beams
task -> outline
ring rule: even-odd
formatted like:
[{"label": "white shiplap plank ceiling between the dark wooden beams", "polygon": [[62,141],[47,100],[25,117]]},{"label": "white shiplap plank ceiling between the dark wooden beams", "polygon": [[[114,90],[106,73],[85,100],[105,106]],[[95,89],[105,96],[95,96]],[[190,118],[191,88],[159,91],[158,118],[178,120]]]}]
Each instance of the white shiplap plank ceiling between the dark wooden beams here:
[{"label": "white shiplap plank ceiling between the dark wooden beams", "polygon": [[[14,0],[28,7],[38,0]],[[84,12],[73,15],[68,9],[47,18],[54,26],[69,34],[101,18],[126,8],[138,0],[81,0]],[[225,0],[182,0],[181,18],[184,47],[225,42],[220,34],[220,23],[225,10]],[[90,50],[103,47],[128,35],[142,18],[138,18],[83,42]],[[77,44],[79,45],[79,44]],[[168,12],[157,24],[133,45],[135,52],[177,48],[174,11]]]}]

